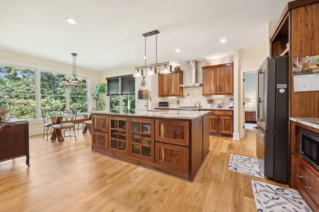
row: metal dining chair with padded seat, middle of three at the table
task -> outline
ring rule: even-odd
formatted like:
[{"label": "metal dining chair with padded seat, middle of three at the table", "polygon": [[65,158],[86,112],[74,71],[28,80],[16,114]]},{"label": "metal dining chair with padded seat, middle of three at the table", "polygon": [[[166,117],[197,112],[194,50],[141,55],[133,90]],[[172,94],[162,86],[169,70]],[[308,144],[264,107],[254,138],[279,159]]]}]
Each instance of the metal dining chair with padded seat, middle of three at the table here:
[{"label": "metal dining chair with padded seat, middle of three at the table", "polygon": [[[57,121],[55,124],[51,126],[51,131],[52,133],[55,133],[57,139],[60,139],[60,142],[62,144],[62,138],[67,137],[65,136],[65,132],[67,129],[70,130],[70,136],[68,137],[75,137],[76,141],[76,133],[75,133],[75,123],[74,121],[76,120],[76,109],[57,109],[56,117]],[[73,129],[73,130],[72,130]],[[74,135],[72,135],[72,131]],[[53,142],[53,141],[52,141]]]}]

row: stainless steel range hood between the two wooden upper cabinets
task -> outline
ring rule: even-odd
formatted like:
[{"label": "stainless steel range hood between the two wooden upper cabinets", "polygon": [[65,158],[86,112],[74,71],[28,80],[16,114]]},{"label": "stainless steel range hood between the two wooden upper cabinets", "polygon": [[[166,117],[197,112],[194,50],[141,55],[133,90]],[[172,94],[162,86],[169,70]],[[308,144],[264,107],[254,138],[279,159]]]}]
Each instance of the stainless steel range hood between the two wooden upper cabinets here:
[{"label": "stainless steel range hood between the two wooden upper cabinets", "polygon": [[183,70],[183,84],[179,87],[194,88],[201,87],[202,85],[197,82],[197,61],[186,61],[186,68]]}]

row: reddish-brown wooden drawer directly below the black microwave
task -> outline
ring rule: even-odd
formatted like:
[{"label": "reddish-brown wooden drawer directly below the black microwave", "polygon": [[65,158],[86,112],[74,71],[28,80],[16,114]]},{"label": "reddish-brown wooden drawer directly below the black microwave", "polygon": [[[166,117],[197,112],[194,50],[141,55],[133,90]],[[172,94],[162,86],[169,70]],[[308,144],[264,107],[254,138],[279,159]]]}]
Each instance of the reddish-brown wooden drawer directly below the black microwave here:
[{"label": "reddish-brown wooden drawer directly below the black microwave", "polygon": [[[319,203],[319,176],[308,168],[310,166],[304,159],[298,156],[293,157],[294,163],[294,179],[297,182],[297,187],[303,194],[306,192],[315,203]],[[319,172],[317,171],[317,174]],[[304,192],[303,192],[304,191]],[[303,194],[305,196],[305,194]],[[308,202],[310,202],[308,200]],[[314,208],[314,207],[313,207]]]}]

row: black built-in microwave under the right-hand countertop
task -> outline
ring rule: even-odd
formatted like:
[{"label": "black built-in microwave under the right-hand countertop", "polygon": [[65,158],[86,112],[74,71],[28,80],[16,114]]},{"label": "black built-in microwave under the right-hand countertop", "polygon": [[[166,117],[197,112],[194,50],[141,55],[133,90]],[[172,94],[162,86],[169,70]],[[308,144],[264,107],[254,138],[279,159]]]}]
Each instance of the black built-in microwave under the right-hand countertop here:
[{"label": "black built-in microwave under the right-hand countertop", "polygon": [[319,133],[303,130],[300,140],[301,156],[319,171]]}]

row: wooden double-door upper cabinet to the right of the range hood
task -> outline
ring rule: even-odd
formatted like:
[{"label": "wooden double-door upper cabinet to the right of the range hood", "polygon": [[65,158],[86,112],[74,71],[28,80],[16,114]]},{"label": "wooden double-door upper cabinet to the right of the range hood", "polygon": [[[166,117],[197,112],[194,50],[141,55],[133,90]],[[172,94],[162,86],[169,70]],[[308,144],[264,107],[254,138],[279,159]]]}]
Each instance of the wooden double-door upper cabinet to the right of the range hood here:
[{"label": "wooden double-door upper cabinet to the right of the range hood", "polygon": [[233,94],[233,63],[204,66],[203,96]]}]

